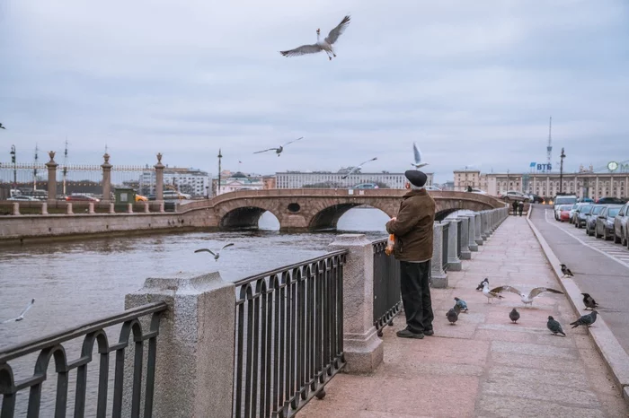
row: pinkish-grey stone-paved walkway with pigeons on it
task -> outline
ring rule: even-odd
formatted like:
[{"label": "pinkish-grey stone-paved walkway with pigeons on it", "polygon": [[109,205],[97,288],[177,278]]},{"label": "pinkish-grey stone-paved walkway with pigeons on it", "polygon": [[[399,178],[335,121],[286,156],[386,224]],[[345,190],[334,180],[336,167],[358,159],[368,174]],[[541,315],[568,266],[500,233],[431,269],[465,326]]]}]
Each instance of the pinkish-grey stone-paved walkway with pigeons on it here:
[{"label": "pinkish-grey stone-paved walkway with pigeons on it", "polygon": [[[509,217],[463,266],[448,274],[450,288],[432,290],[434,336],[397,338],[394,332],[405,324],[396,318],[385,329],[385,361],[373,375],[337,375],[327,396],[313,399],[297,416],[629,416],[587,331],[570,328],[576,317],[563,295],[544,293],[533,308],[524,308],[513,293],[488,304],[474,290],[483,277],[491,287],[560,289],[524,217]],[[446,312],[455,296],[470,311],[450,326]],[[518,324],[509,321],[514,307]],[[546,329],[549,315],[567,337]]]}]

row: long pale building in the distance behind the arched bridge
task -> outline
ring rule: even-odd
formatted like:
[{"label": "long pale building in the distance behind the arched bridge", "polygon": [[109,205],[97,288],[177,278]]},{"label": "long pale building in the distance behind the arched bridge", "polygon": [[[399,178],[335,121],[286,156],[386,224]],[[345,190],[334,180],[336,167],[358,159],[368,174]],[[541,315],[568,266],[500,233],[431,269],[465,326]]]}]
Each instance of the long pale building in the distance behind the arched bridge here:
[{"label": "long pale building in the distance behind the arched bridge", "polygon": [[[277,188],[350,188],[363,183],[375,183],[381,188],[404,188],[404,173],[345,173],[332,171],[286,171],[275,174]],[[432,173],[426,173],[427,186],[432,186]]]}]

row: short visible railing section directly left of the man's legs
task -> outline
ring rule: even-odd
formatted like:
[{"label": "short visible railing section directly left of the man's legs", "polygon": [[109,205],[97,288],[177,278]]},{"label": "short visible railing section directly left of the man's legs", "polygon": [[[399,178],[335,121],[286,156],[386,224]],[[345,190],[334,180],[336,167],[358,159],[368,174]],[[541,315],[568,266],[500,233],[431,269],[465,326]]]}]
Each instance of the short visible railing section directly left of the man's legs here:
[{"label": "short visible railing section directly left of the man's legs", "polygon": [[387,239],[374,241],[374,326],[377,335],[382,328],[393,325],[394,317],[402,308],[400,293],[400,262],[385,254]]}]

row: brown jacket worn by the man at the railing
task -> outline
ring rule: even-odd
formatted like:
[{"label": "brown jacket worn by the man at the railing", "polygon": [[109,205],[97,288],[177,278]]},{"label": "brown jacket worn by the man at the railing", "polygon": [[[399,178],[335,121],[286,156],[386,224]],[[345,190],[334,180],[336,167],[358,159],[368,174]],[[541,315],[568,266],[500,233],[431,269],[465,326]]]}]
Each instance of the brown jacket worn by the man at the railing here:
[{"label": "brown jacket worn by the man at the railing", "polygon": [[426,190],[404,195],[395,221],[386,222],[386,231],[395,235],[394,257],[400,261],[430,260],[434,222],[435,201]]}]

